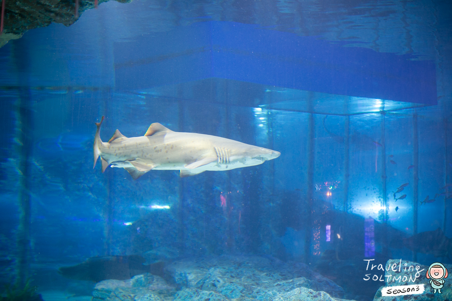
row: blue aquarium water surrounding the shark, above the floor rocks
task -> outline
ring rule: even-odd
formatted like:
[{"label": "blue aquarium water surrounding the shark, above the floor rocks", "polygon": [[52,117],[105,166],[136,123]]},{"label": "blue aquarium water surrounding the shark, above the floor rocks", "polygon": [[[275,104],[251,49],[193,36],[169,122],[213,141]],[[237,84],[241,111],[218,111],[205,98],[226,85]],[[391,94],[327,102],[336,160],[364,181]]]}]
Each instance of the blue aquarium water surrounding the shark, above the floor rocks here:
[{"label": "blue aquarium water surrounding the shark, above the floor rocks", "polygon": [[[0,283],[21,269],[40,292],[88,296],[92,284],[58,268],[150,251],[168,262],[271,256],[332,281],[340,265],[322,264],[336,255],[360,276],[372,257],[450,264],[447,238],[430,249],[396,242],[438,228],[452,237],[452,186],[442,188],[452,183],[451,25],[441,1],[135,0],[11,40],[0,48]],[[102,116],[104,142],[159,122],[281,156],[134,181],[92,169]],[[360,285],[363,300],[379,287]]]}]

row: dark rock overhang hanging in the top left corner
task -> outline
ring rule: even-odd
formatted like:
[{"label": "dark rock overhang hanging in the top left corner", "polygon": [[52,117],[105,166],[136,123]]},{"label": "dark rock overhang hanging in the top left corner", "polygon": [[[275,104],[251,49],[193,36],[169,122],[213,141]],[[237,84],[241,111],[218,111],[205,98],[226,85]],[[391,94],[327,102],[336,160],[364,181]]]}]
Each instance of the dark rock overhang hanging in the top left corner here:
[{"label": "dark rock overhang hanging in the top left corner", "polygon": [[[76,14],[77,0],[4,0],[5,15],[3,34],[0,35],[0,47],[10,39],[20,38],[24,32],[45,27],[49,24],[62,23],[72,25],[80,15],[94,8],[93,1],[79,0],[78,14]],[[99,4],[108,0],[99,0]],[[116,0],[120,3],[128,3],[132,0]],[[1,4],[1,1],[0,1]]]}]

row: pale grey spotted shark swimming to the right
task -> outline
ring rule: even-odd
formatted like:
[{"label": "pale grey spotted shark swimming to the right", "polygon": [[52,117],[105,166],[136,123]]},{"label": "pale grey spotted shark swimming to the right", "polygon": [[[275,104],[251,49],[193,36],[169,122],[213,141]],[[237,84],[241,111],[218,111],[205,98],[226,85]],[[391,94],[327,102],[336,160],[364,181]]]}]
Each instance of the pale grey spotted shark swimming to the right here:
[{"label": "pale grey spotted shark swimming to the right", "polygon": [[150,170],[179,170],[181,177],[205,171],[224,171],[255,166],[278,158],[280,152],[218,136],[172,131],[160,123],[149,126],[144,136],[127,138],[116,130],[108,142],[101,140],[96,122],[94,167],[101,157],[107,167],[127,170],[136,180]]}]

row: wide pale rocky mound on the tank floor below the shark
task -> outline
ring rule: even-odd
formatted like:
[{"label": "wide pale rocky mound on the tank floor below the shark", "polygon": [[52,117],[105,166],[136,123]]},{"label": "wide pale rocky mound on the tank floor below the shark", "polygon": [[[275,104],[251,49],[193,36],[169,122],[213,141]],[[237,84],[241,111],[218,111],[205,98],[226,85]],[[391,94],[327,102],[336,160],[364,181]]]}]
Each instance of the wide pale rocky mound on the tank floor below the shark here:
[{"label": "wide pale rocky mound on the tank floor below the shark", "polygon": [[341,287],[302,263],[259,256],[190,258],[166,266],[165,280],[150,274],[97,283],[93,301],[337,301]]}]

